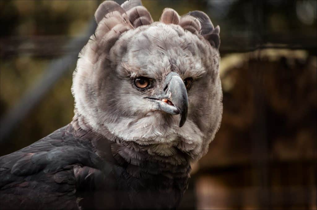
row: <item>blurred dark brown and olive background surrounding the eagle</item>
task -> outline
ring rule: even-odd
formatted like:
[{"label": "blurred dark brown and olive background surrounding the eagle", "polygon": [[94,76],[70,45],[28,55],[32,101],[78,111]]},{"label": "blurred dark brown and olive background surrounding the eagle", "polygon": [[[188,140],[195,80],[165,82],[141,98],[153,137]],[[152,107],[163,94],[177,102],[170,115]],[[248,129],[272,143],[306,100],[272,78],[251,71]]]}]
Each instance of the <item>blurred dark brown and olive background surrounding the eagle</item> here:
[{"label": "blurred dark brown and olive background surrounding the eagle", "polygon": [[[102,1],[1,1],[0,155],[68,124]],[[117,1],[123,3],[124,1]],[[180,209],[316,209],[316,1],[154,1],[221,28],[223,120]]]}]

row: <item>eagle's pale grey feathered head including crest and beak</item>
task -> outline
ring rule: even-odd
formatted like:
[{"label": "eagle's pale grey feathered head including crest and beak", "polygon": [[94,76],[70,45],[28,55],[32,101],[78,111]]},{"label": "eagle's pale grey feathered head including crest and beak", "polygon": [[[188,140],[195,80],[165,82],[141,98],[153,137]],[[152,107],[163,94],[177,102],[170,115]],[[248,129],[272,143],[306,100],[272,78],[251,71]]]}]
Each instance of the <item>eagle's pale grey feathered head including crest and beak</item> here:
[{"label": "eagle's pale grey feathered head including crest and beak", "polygon": [[79,54],[75,113],[112,141],[160,144],[199,159],[222,118],[219,26],[170,8],[154,22],[140,1],[100,4]]}]

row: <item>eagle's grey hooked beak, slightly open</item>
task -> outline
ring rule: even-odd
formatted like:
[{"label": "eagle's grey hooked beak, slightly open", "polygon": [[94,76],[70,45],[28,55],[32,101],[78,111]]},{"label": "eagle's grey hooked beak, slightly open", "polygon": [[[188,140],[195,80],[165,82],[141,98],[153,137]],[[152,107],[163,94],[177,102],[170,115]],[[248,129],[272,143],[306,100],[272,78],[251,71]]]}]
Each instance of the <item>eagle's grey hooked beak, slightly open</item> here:
[{"label": "eagle's grey hooked beak, slightly open", "polygon": [[164,81],[164,92],[154,97],[144,97],[155,101],[155,107],[166,113],[180,114],[179,127],[186,122],[188,109],[188,96],[184,81],[176,72],[169,73]]}]

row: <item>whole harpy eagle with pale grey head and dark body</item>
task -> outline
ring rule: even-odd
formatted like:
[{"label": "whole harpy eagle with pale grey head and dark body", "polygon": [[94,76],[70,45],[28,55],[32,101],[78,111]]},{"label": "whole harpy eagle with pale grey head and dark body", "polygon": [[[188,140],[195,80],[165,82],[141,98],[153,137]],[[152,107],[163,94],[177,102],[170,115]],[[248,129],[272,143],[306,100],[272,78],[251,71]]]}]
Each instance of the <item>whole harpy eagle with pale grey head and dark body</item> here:
[{"label": "whole harpy eagle with pale grey head and dark body", "polygon": [[65,127],[1,157],[1,209],[176,208],[222,118],[219,27],[100,4]]}]

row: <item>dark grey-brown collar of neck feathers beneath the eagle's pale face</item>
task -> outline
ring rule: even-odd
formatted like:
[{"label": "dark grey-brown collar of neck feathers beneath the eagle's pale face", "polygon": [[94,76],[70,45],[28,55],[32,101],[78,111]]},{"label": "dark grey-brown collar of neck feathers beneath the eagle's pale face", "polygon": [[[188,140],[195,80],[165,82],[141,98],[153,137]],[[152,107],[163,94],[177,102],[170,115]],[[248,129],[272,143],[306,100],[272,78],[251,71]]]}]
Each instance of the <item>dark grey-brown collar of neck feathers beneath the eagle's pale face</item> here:
[{"label": "dark grey-brown collar of neck feathers beneath the eagle's pale face", "polygon": [[[95,152],[106,158],[111,153],[116,162],[124,166],[133,177],[162,175],[167,178],[188,178],[191,171],[189,156],[173,145],[140,145],[125,141],[110,132],[107,136],[94,131],[86,119],[75,114],[71,126],[74,135],[92,141]],[[105,132],[103,132],[105,133]]]}]

